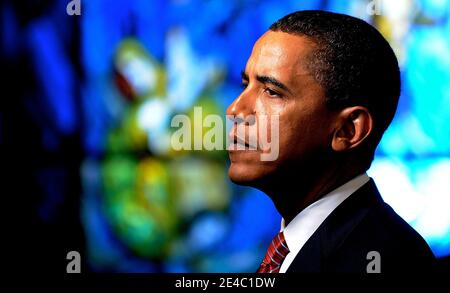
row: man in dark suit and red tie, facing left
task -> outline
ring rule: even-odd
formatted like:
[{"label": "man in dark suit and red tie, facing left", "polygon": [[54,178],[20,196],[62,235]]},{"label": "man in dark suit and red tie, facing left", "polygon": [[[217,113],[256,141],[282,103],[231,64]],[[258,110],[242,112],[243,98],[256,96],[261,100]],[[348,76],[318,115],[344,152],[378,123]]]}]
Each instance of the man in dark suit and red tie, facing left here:
[{"label": "man in dark suit and red tie, facing left", "polygon": [[433,269],[426,242],[366,174],[400,95],[397,59],[375,28],[331,12],[287,15],[255,43],[242,82],[227,110],[234,144],[254,139],[238,125],[279,119],[276,160],[230,150],[231,180],[265,192],[283,217],[258,272]]}]

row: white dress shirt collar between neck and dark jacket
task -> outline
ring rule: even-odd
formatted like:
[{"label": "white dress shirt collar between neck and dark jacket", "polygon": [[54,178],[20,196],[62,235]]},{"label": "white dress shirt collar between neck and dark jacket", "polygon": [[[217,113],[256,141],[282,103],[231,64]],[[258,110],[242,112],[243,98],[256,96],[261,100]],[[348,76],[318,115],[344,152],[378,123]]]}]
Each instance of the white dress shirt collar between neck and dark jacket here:
[{"label": "white dress shirt collar between neck and dark jacket", "polygon": [[367,173],[353,178],[302,210],[286,227],[284,219],[281,220],[281,231],[289,253],[281,264],[280,273],[287,271],[300,249],[331,212],[369,179]]}]

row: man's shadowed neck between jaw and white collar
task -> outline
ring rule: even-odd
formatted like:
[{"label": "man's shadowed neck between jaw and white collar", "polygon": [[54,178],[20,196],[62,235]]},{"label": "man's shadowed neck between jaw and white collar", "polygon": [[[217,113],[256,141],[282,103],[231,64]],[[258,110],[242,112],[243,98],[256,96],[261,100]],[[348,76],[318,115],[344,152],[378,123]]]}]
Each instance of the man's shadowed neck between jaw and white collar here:
[{"label": "man's shadowed neck between jaw and white collar", "polygon": [[283,172],[296,176],[275,176],[277,178],[267,180],[260,189],[272,199],[287,225],[306,207],[362,172],[342,165],[301,175]]}]

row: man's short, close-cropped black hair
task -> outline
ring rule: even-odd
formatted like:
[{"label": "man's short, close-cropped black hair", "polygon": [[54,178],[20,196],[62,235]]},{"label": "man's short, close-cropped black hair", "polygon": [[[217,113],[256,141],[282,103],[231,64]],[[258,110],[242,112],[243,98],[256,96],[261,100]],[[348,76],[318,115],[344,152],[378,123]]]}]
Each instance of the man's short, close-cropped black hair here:
[{"label": "man's short, close-cropped black hair", "polygon": [[361,19],[318,10],[286,15],[270,30],[306,36],[315,43],[306,66],[324,89],[329,107],[360,105],[369,110],[374,120],[368,140],[371,162],[400,96],[398,61],[386,39]]}]

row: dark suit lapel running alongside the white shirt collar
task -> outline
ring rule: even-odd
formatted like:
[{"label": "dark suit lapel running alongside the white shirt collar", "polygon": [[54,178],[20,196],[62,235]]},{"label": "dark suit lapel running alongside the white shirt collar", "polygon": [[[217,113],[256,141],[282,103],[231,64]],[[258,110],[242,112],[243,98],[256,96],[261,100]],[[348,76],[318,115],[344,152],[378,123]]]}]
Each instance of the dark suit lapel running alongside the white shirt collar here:
[{"label": "dark suit lapel running alongside the white shirt collar", "polygon": [[367,212],[382,203],[372,179],[343,201],[317,228],[299,251],[287,272],[321,272],[326,259],[338,249]]}]

